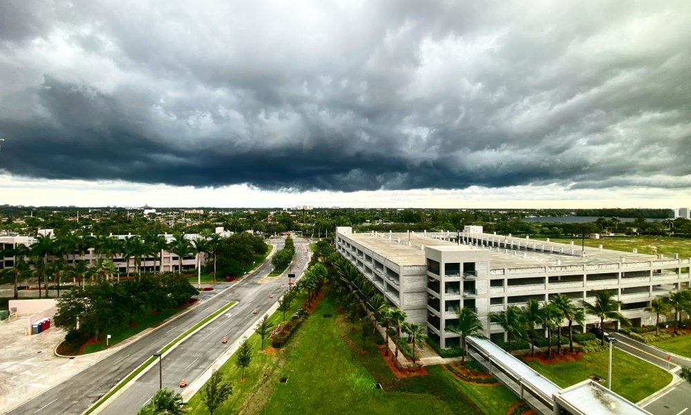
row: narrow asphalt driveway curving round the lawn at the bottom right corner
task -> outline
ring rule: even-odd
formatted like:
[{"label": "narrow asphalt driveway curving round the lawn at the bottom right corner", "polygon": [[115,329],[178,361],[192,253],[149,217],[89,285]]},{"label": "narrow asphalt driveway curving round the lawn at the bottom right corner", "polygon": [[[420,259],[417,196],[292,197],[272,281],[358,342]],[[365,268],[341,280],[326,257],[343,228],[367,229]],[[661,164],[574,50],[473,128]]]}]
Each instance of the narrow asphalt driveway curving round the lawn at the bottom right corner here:
[{"label": "narrow asphalt driveway curving round the lawn at the bottom right corner", "polygon": [[[612,333],[612,335],[618,340],[616,347],[662,369],[668,369],[667,356],[670,356],[670,362],[674,365],[691,366],[691,359],[672,356],[665,351],[650,347],[647,344],[635,342],[618,333]],[[613,362],[613,365],[616,366],[616,362]],[[685,381],[679,382],[661,396],[646,403],[643,409],[654,415],[691,415],[691,385]]]}]

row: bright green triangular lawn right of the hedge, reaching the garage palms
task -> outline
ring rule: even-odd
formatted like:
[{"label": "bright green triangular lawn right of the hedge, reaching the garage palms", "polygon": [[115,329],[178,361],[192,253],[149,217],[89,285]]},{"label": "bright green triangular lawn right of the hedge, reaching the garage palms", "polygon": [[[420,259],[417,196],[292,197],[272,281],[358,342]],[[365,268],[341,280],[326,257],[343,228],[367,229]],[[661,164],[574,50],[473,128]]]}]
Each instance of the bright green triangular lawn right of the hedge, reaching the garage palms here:
[{"label": "bright green triangular lawn right of the hedge, reaching the garage palms", "polygon": [[[464,414],[503,415],[518,402],[504,387],[464,385],[439,366],[429,367],[428,376],[396,380],[374,342],[368,340],[366,353],[360,353],[359,330],[351,332],[350,323],[336,315],[325,296],[285,351],[279,377],[288,381],[275,386],[261,413],[457,414],[462,408]],[[375,387],[377,382],[384,390]],[[486,412],[466,396],[481,388],[486,395],[476,398],[489,398]]]}]

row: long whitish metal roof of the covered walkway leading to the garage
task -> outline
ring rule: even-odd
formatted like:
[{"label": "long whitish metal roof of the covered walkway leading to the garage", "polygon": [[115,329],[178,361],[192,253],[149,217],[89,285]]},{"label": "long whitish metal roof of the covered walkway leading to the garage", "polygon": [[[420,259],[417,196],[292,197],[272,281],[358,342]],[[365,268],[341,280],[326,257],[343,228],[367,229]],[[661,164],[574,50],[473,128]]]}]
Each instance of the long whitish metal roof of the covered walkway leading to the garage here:
[{"label": "long whitish metal roof of the covered walkway leading to the garage", "polygon": [[562,389],[493,342],[468,336],[468,353],[540,414],[650,415],[594,380]]}]

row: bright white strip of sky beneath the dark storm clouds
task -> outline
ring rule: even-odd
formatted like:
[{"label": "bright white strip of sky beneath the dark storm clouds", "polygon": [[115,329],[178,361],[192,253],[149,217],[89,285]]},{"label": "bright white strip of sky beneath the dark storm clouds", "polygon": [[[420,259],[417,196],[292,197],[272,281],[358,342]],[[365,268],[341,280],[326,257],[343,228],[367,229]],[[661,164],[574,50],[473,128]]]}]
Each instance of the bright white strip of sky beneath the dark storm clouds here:
[{"label": "bright white strip of sky beneath the dark storm clouds", "polygon": [[563,185],[471,186],[464,190],[359,192],[269,191],[249,185],[176,187],[124,181],[45,180],[0,175],[0,204],[27,206],[121,206],[158,208],[680,208],[691,189],[617,187],[570,190]]}]

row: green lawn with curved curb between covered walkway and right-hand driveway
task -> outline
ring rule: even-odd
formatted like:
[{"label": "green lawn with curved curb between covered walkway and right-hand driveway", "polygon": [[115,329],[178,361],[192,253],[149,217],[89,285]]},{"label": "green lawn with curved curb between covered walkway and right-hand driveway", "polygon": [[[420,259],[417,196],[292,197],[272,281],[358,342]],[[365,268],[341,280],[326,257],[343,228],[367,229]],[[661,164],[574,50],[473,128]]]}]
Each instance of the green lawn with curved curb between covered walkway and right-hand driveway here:
[{"label": "green lawn with curved curb between covered walkway and right-hand driveway", "polygon": [[[586,353],[578,362],[541,365],[531,361],[529,365],[560,387],[582,382],[591,374],[607,379],[609,353]],[[612,353],[612,390],[636,403],[667,386],[672,375],[644,362],[629,353],[614,350]]]}]

